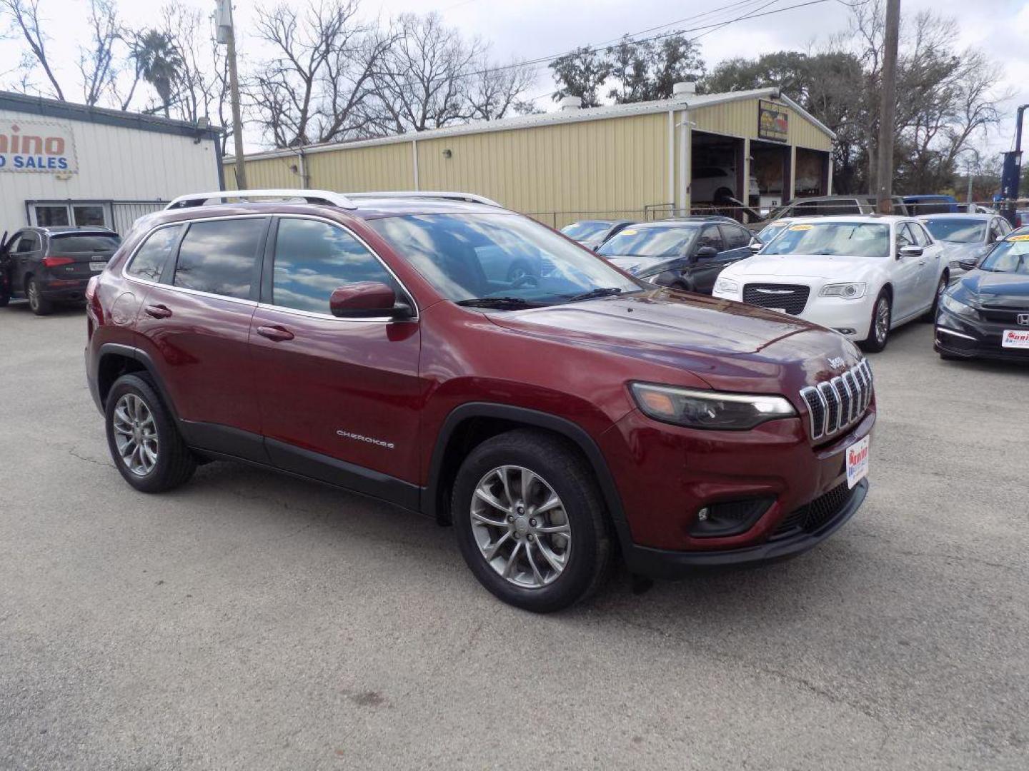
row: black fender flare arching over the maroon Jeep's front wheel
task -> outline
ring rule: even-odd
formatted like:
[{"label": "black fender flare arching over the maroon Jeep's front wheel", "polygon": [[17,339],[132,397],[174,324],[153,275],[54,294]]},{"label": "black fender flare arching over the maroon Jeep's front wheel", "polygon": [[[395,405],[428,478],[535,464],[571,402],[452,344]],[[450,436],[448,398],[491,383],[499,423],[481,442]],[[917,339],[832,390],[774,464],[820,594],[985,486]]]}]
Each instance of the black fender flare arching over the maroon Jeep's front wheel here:
[{"label": "black fender flare arching over the maroon Jeep's front wheel", "polygon": [[624,551],[632,546],[632,534],[629,529],[629,522],[626,520],[625,508],[622,505],[622,497],[618,494],[614,484],[614,477],[607,466],[607,461],[600,447],[587,431],[567,418],[553,415],[548,412],[530,409],[528,407],[517,407],[509,404],[495,404],[493,402],[468,402],[455,407],[443,420],[436,435],[435,446],[432,450],[432,458],[429,463],[428,485],[422,490],[421,510],[435,519],[439,520],[440,512],[437,510],[439,498],[439,483],[443,462],[446,461],[447,446],[450,444],[458,426],[473,417],[492,417],[511,423],[546,429],[555,434],[563,436],[571,441],[581,450],[588,463],[593,468],[600,492],[604,498],[604,504],[610,514],[611,523],[614,525],[615,535],[622,544]]}]

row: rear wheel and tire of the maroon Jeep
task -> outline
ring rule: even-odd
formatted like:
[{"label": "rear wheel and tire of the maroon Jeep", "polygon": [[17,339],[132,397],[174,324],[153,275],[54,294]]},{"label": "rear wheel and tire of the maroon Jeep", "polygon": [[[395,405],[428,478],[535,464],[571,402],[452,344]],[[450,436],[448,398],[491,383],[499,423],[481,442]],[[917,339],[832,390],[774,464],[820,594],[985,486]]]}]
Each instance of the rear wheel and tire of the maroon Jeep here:
[{"label": "rear wheel and tire of the maroon Jeep", "polygon": [[164,492],[193,475],[197,462],[149,380],[139,375],[115,380],[104,415],[111,460],[140,492]]}]

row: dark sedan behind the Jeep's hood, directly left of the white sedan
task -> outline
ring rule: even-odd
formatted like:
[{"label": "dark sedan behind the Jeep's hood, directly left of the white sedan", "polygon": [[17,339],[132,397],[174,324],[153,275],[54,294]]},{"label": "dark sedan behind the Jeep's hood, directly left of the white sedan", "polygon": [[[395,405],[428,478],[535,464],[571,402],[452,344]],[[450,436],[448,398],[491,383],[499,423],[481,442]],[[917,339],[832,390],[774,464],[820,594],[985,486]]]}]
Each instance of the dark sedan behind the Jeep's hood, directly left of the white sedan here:
[{"label": "dark sedan behind the Jeep's hood, directly left of the white sedan", "polygon": [[752,254],[752,241],[729,217],[681,217],[627,227],[597,253],[651,284],[711,294],[726,265]]}]

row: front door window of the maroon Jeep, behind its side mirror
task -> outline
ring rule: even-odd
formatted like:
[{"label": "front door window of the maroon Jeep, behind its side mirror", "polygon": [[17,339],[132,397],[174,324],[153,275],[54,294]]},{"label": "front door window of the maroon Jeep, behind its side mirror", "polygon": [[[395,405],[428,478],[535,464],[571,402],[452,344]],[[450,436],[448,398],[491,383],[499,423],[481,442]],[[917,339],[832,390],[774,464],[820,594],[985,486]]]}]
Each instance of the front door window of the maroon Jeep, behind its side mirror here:
[{"label": "front door window of the maroon Jeep, behind its side mirror", "polygon": [[328,314],[332,290],[361,281],[377,281],[400,292],[376,256],[342,227],[318,220],[279,222],[273,304]]}]

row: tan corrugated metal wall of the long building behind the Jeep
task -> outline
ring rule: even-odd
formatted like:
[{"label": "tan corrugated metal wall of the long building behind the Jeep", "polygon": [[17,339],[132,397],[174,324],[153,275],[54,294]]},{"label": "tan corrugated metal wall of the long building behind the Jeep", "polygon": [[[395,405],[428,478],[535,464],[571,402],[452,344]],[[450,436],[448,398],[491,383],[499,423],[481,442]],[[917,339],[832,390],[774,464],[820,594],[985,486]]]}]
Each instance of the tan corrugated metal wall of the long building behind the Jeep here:
[{"label": "tan corrugated metal wall of the long building behind the Jeep", "polygon": [[[695,108],[689,119],[699,131],[756,139],[757,102]],[[831,149],[823,132],[782,107],[790,113],[790,144]],[[674,122],[681,119],[676,113]],[[414,189],[414,140],[421,190],[487,195],[555,227],[590,216],[638,217],[648,207],[670,203],[669,130],[668,113],[661,112],[435,138],[409,135],[391,143],[309,151],[308,186],[342,192]],[[678,144],[676,137],[676,155]],[[678,166],[676,158],[676,190]],[[298,168],[295,154],[248,160],[247,182],[252,188],[298,187]],[[226,166],[229,188],[234,177]]]}]

